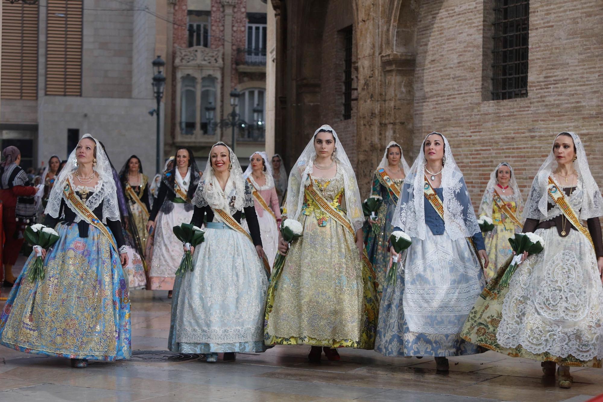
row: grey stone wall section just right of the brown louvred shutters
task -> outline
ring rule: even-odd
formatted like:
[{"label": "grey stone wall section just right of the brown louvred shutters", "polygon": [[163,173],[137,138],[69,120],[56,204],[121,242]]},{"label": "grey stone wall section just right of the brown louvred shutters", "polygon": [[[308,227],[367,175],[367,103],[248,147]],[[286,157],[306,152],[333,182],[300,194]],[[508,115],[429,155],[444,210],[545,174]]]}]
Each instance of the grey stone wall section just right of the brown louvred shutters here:
[{"label": "grey stone wall section just right of the brown louvred shutters", "polygon": [[82,96],[132,95],[133,1],[84,1]]}]

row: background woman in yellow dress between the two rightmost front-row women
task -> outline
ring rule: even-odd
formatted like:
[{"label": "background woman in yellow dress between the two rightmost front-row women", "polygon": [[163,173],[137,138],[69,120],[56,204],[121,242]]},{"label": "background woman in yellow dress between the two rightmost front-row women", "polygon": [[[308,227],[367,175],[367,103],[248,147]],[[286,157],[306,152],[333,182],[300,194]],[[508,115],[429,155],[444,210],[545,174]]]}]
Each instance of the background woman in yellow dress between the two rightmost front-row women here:
[{"label": "background woman in yellow dress between the two rightmost front-row women", "polygon": [[486,215],[494,223],[493,230],[483,232],[486,251],[490,258],[490,265],[485,270],[487,281],[490,281],[498,267],[513,254],[509,238],[522,231],[523,223],[520,220],[522,211],[523,197],[513,168],[507,162],[502,162],[490,173],[490,181],[484,191],[478,212],[480,217]]}]

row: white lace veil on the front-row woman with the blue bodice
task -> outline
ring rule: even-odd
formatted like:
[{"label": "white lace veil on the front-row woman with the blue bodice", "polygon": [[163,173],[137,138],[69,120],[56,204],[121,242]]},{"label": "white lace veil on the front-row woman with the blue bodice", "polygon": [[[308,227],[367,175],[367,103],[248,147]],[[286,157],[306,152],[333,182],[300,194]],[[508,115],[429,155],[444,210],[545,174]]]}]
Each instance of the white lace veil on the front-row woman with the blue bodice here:
[{"label": "white lace veil on the front-row woman with the blue bodice", "polygon": [[[432,132],[432,134],[440,134]],[[428,135],[428,136],[429,136]],[[441,134],[440,134],[441,135]],[[425,139],[427,139],[427,137]],[[450,144],[445,136],[444,156],[446,162],[442,168],[442,183],[444,196],[444,227],[452,240],[471,237],[478,233],[479,225],[469,197],[469,191],[463,178],[463,173],[456,165]],[[417,159],[412,164],[409,174],[404,179],[400,199],[394,211],[392,224],[401,228],[411,237],[425,240],[425,205],[423,187],[425,184],[425,147],[421,149]]]}]

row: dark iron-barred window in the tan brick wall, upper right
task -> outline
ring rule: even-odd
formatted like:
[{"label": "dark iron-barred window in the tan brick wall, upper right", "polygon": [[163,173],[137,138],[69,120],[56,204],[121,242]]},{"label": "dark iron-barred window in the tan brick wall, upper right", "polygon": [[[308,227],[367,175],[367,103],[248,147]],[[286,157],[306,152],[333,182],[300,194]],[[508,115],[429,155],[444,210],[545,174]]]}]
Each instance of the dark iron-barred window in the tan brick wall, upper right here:
[{"label": "dark iron-barred window in the tan brick wall, upper right", "polygon": [[529,0],[494,0],[492,100],[528,96]]}]

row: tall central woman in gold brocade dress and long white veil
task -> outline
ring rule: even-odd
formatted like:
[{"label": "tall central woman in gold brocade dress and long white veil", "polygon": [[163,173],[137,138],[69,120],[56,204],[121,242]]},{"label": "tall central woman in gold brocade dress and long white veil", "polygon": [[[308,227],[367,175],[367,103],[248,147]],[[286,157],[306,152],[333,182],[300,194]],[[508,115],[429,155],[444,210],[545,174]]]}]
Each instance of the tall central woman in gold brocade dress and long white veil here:
[{"label": "tall central woman in gold brocade dress and long white veil", "polygon": [[[289,245],[271,278],[267,345],[312,345],[308,358],[339,360],[335,348],[373,349],[378,310],[374,273],[362,244],[364,216],[356,176],[330,126],[316,130],[289,175],[284,215],[303,237]],[[284,220],[285,218],[283,218]]]}]

